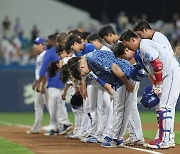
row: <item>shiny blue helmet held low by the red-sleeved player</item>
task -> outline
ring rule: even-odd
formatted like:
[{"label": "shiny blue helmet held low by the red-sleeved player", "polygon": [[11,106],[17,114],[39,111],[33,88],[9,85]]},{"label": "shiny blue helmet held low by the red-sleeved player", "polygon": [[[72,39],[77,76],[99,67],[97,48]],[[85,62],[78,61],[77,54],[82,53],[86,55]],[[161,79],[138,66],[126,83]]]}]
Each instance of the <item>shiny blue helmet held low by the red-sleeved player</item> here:
[{"label": "shiny blue helmet held low by the red-sleeved player", "polygon": [[140,100],[142,105],[147,108],[154,108],[159,103],[158,96],[152,91],[152,86],[146,87]]}]

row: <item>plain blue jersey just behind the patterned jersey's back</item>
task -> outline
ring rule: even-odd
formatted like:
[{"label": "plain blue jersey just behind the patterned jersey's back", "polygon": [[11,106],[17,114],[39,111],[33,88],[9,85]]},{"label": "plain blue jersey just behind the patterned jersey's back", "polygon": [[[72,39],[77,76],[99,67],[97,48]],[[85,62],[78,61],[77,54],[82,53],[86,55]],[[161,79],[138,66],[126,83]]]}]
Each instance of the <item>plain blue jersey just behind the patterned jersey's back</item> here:
[{"label": "plain blue jersey just behind the patterned jersey's back", "polygon": [[97,50],[96,47],[94,45],[92,45],[91,43],[85,43],[84,44],[84,49],[81,50],[80,52],[76,53],[77,57],[83,56],[87,53],[90,53],[94,50]]}]

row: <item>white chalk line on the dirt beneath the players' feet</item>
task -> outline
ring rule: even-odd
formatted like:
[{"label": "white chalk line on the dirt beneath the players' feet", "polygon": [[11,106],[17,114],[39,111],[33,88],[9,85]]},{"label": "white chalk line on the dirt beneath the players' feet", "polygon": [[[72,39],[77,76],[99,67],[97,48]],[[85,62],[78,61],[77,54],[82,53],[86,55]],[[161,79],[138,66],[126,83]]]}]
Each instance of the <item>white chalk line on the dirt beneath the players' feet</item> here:
[{"label": "white chalk line on the dirt beneath the players' feet", "polygon": [[[32,126],[29,125],[21,125],[21,124],[13,124],[10,122],[5,122],[5,121],[0,121],[0,124],[2,125],[6,125],[6,126],[15,126],[15,127],[21,127],[21,128],[32,128]],[[128,149],[132,149],[132,150],[137,150],[137,151],[143,151],[143,152],[147,152],[147,153],[151,153],[151,154],[163,154],[161,152],[156,152],[156,151],[152,151],[152,150],[146,150],[146,149],[141,149],[141,148],[133,148],[130,146],[124,146],[125,148]]]}]

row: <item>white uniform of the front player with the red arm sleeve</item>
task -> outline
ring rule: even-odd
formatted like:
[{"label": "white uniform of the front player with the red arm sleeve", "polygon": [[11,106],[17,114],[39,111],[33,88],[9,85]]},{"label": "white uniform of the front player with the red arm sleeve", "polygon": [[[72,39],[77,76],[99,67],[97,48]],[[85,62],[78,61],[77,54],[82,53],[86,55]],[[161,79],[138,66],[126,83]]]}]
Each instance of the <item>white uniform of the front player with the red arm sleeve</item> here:
[{"label": "white uniform of the front player with the red arm sleeve", "polygon": [[165,144],[172,142],[170,132],[174,128],[174,109],[180,93],[180,67],[177,60],[167,48],[148,39],[140,42],[140,56],[149,73],[154,76],[151,61],[159,58],[163,63],[162,75],[162,94],[160,103],[156,107],[159,113],[159,133]]}]

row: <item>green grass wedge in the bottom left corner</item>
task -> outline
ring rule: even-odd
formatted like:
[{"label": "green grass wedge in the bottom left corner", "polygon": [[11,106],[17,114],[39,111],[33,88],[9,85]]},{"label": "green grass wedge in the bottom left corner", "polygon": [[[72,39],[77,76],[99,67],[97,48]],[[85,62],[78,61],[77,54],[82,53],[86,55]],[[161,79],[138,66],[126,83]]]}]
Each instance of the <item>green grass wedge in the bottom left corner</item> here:
[{"label": "green grass wedge in the bottom left corner", "polygon": [[12,154],[12,153],[33,154],[33,152],[28,150],[27,148],[25,148],[19,144],[16,144],[14,142],[10,142],[8,140],[5,140],[2,137],[0,137],[0,153],[4,153],[4,154]]}]

